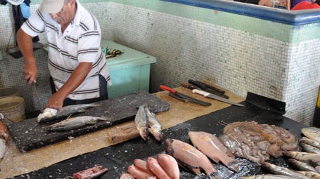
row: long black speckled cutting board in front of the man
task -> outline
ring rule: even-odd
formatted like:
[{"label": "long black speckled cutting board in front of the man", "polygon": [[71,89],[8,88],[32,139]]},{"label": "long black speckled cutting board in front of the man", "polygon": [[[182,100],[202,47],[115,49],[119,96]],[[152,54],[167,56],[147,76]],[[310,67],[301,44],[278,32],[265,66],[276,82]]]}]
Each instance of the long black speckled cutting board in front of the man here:
[{"label": "long black speckled cutting board in front of the man", "polygon": [[27,152],[78,135],[97,131],[101,128],[107,128],[108,126],[134,120],[136,112],[138,111],[137,107],[141,105],[148,105],[151,112],[154,113],[169,110],[169,103],[146,91],[138,91],[136,93],[130,93],[129,95],[123,95],[119,98],[103,100],[101,102],[103,103],[103,106],[89,108],[88,112],[74,114],[72,117],[112,117],[110,123],[107,121],[99,121],[97,124],[72,131],[49,133],[44,127],[63,119],[39,124],[37,118],[34,118],[19,121],[14,124],[8,124],[8,131],[13,138],[16,147],[21,152]]}]

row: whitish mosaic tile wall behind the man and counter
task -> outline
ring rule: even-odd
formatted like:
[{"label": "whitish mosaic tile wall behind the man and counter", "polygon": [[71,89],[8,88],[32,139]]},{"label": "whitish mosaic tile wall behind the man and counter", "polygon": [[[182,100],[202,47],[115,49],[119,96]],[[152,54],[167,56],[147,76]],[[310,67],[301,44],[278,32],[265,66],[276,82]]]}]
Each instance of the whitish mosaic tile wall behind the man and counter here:
[{"label": "whitish mosaic tile wall behind the man and counter", "polygon": [[[248,20],[252,29],[245,31],[246,27],[236,21],[238,28],[222,25],[221,18],[211,23],[113,2],[82,5],[98,18],[103,38],[157,58],[151,65],[152,93],[159,91],[160,84],[177,87],[188,79],[207,80],[244,98],[250,91],[286,101],[286,117],[312,124],[320,84],[319,55],[312,47],[316,47],[320,39],[302,41],[303,34],[293,36],[293,29],[288,25],[277,25],[281,31],[274,32],[277,29],[266,28],[271,27],[272,22],[263,20],[258,23]],[[35,9],[37,5],[32,6],[32,11]],[[36,110],[31,91],[24,84],[23,59],[13,59],[4,53],[12,30],[12,22],[8,21],[11,11],[7,6],[0,11],[4,16],[0,19],[4,21],[0,27],[0,46],[5,59],[0,61],[0,87],[19,86],[30,104],[27,111]],[[189,17],[186,14],[184,11]],[[229,16],[228,20],[234,18]],[[283,40],[286,37],[294,37],[295,43]],[[51,95],[46,53],[37,51],[36,56],[39,69],[44,69],[39,75],[39,80],[44,82],[38,86],[40,98],[44,99],[41,103],[45,104]],[[13,71],[15,75],[7,76]]]}]

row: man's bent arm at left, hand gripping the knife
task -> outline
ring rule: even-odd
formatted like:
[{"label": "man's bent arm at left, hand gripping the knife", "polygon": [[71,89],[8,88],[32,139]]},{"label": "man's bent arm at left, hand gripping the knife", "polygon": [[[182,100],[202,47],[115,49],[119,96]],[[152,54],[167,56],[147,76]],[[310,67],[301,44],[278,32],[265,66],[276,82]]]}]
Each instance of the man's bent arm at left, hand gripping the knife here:
[{"label": "man's bent arm at left, hand gripping the knife", "polygon": [[20,28],[17,32],[17,42],[20,51],[25,58],[23,75],[25,76],[25,79],[28,80],[28,84],[32,84],[37,79],[38,74],[37,62],[33,53],[32,37],[23,32],[23,29]]}]

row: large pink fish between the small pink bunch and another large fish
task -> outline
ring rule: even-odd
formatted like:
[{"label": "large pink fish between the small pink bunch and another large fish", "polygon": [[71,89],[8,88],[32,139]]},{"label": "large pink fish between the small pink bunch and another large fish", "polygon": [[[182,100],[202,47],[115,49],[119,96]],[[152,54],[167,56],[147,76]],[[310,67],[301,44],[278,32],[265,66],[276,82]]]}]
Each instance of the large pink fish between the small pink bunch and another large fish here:
[{"label": "large pink fish between the small pink bunch and another large fish", "polygon": [[171,138],[167,138],[165,144],[167,145],[167,153],[177,159],[178,163],[182,166],[189,168],[198,175],[201,174],[200,170],[202,169],[208,178],[212,178],[212,174],[215,178],[220,178],[219,175],[217,175],[217,170],[205,154],[192,145]]}]

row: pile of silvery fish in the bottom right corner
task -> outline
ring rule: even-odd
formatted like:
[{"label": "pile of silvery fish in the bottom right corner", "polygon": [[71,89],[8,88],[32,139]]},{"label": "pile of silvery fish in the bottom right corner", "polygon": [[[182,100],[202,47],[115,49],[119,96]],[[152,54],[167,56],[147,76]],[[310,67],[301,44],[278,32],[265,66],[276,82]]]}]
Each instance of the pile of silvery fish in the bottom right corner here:
[{"label": "pile of silvery fish in the bottom right corner", "polygon": [[277,166],[268,162],[262,162],[270,175],[252,175],[245,178],[297,178],[297,179],[319,179],[320,178],[320,128],[302,128],[305,137],[299,140],[302,152],[284,151],[290,168]]}]

